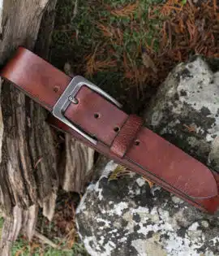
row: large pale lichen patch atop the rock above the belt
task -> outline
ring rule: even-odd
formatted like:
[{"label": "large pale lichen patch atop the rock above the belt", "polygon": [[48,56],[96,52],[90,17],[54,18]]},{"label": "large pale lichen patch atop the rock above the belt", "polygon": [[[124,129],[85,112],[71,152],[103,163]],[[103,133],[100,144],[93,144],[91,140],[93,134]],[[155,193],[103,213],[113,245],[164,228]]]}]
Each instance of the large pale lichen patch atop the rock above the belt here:
[{"label": "large pale lichen patch atop the rock above the belt", "polygon": [[[212,127],[208,128],[207,141],[213,141],[213,136],[219,135],[219,76],[213,74],[203,59],[197,58],[193,63],[186,65],[190,72],[188,77],[181,77],[177,87],[179,102],[187,103],[197,112],[203,107],[208,111],[208,117],[215,119]],[[185,94],[182,95],[182,91]],[[201,128],[200,128],[201,129]],[[204,132],[204,130],[202,130]],[[196,128],[196,132],[200,132]]]}]

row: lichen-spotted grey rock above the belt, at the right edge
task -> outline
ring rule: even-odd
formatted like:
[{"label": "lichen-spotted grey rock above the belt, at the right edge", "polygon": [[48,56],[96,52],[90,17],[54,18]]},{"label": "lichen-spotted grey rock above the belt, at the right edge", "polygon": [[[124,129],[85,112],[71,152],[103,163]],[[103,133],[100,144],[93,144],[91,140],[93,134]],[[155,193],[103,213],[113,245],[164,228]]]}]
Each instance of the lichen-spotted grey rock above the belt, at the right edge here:
[{"label": "lichen-spotted grey rock above the belt, at the right edge", "polygon": [[218,96],[219,72],[195,57],[179,64],[161,85],[145,113],[146,124],[219,171]]}]

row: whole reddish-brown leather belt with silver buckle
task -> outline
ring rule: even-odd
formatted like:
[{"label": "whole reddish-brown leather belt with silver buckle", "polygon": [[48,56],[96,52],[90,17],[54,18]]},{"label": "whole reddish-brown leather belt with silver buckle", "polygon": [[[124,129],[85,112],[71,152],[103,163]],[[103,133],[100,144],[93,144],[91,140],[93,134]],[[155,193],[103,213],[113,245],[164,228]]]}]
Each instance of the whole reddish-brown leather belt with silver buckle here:
[{"label": "whole reddish-brown leather belt with silver buckle", "polygon": [[118,102],[82,76],[69,77],[19,47],[1,76],[53,116],[49,123],[116,162],[147,176],[193,206],[219,206],[219,174],[127,115]]}]

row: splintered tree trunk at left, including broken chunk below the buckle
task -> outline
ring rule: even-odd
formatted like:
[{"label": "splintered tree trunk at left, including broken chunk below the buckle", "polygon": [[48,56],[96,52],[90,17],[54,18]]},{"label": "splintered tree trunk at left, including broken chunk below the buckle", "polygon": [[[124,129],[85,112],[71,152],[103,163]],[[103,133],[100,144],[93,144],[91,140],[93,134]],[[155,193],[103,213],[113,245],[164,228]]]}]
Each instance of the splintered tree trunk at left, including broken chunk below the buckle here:
[{"label": "splintered tree trunk at left, including broken chunk below the buckle", "polygon": [[[0,7],[1,64],[11,57],[17,46],[31,50],[35,47],[36,53],[47,57],[56,2],[3,1]],[[67,150],[62,149],[65,161],[61,161],[61,166],[58,164],[59,148],[55,133],[45,122],[46,115],[47,112],[26,98],[24,93],[8,82],[3,83],[0,106],[0,206],[5,221],[1,255],[10,254],[11,242],[15,241],[22,228],[29,239],[32,238],[38,206],[43,208],[48,219],[52,219],[59,185],[71,191],[83,189],[82,182],[76,182],[78,186],[75,189],[70,178],[79,176],[80,180],[84,179],[84,173],[92,168],[93,151],[70,138],[66,142]],[[71,167],[72,149],[80,156],[79,164],[78,158],[75,158],[74,167]]]}]

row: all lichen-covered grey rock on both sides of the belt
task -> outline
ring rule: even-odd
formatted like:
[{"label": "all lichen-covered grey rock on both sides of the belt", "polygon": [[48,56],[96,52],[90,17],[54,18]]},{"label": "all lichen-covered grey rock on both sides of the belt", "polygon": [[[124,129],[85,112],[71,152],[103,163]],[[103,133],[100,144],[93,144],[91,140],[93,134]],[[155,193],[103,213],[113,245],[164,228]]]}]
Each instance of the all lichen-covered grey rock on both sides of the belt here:
[{"label": "all lichen-covered grey rock on both sides of the belt", "polygon": [[[215,64],[216,63],[216,64]],[[145,113],[148,127],[219,171],[217,62],[179,64]],[[218,256],[219,211],[207,215],[140,176],[110,180],[103,167],[77,210],[79,235],[95,256]]]}]

